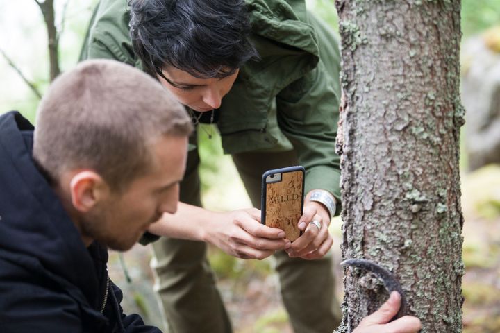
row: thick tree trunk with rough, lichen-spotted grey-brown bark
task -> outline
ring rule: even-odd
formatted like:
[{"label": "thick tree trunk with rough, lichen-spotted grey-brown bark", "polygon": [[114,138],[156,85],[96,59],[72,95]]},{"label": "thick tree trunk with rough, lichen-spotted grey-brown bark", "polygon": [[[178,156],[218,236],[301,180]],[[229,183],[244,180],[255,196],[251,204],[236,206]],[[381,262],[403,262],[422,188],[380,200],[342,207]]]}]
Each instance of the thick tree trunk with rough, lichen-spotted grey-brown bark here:
[{"label": "thick tree trunk with rough, lichen-spotted grey-brown bark", "polygon": [[[461,332],[460,1],[336,1],[344,258],[397,275],[422,332]],[[351,332],[387,298],[346,271]]]}]

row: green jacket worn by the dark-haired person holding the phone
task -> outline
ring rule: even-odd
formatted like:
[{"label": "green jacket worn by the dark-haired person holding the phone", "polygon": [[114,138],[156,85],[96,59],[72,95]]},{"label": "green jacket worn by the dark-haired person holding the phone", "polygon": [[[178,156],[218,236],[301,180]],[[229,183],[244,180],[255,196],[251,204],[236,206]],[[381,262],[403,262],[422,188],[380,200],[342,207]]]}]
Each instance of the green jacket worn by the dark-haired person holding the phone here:
[{"label": "green jacket worn by the dark-haired person holding the phone", "polygon": [[[127,0],[101,0],[81,58],[111,58],[142,68],[128,35]],[[340,55],[333,32],[303,0],[247,0],[249,61],[219,108],[225,153],[294,149],[306,168],[306,193],[326,189],[340,198],[335,154]]]}]

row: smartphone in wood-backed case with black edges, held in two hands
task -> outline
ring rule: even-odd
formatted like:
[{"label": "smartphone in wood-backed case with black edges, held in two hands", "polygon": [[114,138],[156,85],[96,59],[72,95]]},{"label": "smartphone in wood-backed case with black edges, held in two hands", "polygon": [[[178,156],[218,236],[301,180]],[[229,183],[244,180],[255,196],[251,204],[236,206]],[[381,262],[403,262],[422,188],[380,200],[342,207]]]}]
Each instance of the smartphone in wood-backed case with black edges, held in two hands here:
[{"label": "smartphone in wood-backed case with black edges, held in two hands", "polygon": [[260,222],[284,230],[290,241],[301,235],[297,225],[303,214],[304,173],[304,168],[297,166],[263,174]]}]

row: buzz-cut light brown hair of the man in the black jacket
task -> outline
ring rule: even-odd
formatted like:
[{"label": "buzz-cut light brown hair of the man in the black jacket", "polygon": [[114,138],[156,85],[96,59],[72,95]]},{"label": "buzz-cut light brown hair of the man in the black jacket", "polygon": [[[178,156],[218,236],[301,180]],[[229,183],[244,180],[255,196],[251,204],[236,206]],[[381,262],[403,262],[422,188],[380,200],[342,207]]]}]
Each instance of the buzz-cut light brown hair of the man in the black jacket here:
[{"label": "buzz-cut light brown hair of the man in the black jacket", "polygon": [[33,158],[55,184],[66,171],[92,169],[123,191],[149,171],[151,144],[190,133],[185,108],[157,80],[115,60],[86,60],[44,95]]}]

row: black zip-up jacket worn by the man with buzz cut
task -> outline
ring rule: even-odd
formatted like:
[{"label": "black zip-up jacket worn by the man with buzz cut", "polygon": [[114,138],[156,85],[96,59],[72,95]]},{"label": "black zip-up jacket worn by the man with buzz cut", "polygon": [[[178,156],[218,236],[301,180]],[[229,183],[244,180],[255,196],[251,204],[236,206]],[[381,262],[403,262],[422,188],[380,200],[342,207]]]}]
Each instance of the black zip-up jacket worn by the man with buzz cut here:
[{"label": "black zip-up jacket worn by the man with buzz cut", "polygon": [[85,248],[32,149],[31,123],[0,116],[0,332],[160,332],[123,314],[106,248]]}]

